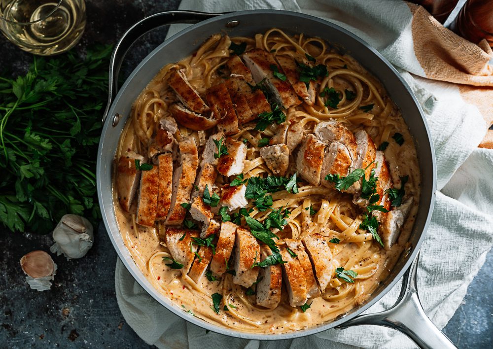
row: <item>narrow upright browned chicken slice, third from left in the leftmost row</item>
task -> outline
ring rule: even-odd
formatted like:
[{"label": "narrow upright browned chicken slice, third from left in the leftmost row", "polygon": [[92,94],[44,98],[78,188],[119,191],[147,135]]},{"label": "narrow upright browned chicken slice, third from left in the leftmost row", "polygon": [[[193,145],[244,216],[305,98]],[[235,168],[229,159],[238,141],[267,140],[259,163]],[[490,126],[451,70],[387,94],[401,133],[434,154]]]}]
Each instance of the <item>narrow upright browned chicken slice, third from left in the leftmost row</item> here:
[{"label": "narrow upright browned chicken slice, third from left in the leftmost row", "polygon": [[168,216],[173,195],[173,156],[161,154],[158,156],[159,189],[157,196],[156,220],[164,220]]}]

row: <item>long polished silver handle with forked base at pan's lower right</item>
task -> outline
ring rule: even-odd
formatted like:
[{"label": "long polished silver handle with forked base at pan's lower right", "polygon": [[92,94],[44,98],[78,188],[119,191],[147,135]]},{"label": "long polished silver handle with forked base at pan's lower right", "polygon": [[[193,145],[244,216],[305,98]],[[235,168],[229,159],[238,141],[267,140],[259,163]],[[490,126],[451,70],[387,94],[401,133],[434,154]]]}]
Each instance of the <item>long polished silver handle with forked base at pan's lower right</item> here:
[{"label": "long polished silver handle with forked base at pan's lower right", "polygon": [[381,313],[357,316],[336,328],[379,325],[402,332],[423,349],[456,348],[424,313],[416,282],[419,257],[418,254],[409,270],[404,274],[399,298],[390,309]]}]

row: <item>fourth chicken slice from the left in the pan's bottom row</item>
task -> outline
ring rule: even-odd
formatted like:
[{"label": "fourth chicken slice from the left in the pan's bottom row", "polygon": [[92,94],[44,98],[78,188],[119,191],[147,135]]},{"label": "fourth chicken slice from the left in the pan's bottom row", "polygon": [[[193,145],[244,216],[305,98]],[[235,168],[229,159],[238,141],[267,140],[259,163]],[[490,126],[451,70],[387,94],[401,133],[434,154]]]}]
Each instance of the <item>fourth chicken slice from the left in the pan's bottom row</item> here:
[{"label": "fourth chicken slice from the left in the pan's bottom row", "polygon": [[258,267],[254,263],[260,263],[260,245],[251,233],[243,228],[236,228],[236,257],[233,283],[250,287],[258,277]]}]

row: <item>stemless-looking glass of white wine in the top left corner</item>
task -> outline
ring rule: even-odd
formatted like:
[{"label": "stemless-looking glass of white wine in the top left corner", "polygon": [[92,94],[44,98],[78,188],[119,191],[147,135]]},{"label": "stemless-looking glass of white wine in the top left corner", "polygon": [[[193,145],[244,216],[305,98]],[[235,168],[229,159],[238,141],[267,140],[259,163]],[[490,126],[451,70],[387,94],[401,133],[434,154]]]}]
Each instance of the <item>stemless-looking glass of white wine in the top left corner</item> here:
[{"label": "stemless-looking glass of white wine in the top left corner", "polygon": [[67,51],[82,37],[84,0],[0,0],[0,30],[24,51],[49,56]]}]

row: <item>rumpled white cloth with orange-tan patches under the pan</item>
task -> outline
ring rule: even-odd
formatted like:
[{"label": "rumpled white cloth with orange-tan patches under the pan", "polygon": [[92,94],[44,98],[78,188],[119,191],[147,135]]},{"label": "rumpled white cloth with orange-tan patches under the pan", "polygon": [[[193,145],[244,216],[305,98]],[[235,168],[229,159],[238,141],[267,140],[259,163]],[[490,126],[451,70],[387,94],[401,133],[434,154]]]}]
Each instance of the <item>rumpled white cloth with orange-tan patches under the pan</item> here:
[{"label": "rumpled white cloth with orange-tan patches under the pan", "polygon": [[[422,246],[418,287],[426,314],[444,327],[493,244],[493,150],[488,149],[493,141],[486,136],[493,122],[491,48],[455,35],[422,7],[404,1],[183,0],[180,4],[180,9],[207,12],[259,8],[314,15],[360,36],[399,70],[423,106],[437,157],[439,192]],[[172,27],[169,35],[182,28]],[[206,333],[168,312],[120,261],[115,283],[129,325],[146,343],[159,348],[415,347],[397,331],[376,326],[332,329],[278,342],[232,339]],[[396,285],[368,313],[391,306],[399,288]]]}]

